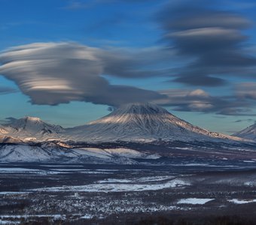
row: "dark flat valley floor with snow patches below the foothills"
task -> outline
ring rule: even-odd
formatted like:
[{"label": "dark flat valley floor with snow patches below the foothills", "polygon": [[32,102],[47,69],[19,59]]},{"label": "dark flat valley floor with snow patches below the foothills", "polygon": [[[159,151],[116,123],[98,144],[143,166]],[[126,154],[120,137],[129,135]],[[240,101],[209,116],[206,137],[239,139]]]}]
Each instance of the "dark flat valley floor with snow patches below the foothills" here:
[{"label": "dark flat valley floor with snow patches below the foothills", "polygon": [[256,165],[248,163],[2,163],[0,224],[255,224]]}]

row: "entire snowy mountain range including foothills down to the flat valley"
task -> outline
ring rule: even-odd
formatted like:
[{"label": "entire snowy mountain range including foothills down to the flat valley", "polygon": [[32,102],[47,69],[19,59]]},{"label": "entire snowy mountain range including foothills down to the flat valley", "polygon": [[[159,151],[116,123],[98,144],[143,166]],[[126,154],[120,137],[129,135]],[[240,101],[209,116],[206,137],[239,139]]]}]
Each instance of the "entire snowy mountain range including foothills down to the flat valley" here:
[{"label": "entire snowy mountain range including foothills down to the flat valley", "polygon": [[243,139],[250,130],[211,132],[154,104],[127,104],[72,128],[25,117],[0,126],[0,162],[241,163],[256,158],[254,142]]}]

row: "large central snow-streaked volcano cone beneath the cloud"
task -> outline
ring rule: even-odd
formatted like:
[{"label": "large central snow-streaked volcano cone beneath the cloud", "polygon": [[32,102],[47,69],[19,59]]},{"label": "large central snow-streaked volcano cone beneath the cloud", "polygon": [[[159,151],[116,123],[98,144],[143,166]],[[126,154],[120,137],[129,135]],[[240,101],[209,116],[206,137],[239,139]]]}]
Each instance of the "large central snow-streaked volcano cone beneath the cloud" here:
[{"label": "large central snow-streaked volcano cone beneath the cloud", "polygon": [[239,138],[210,132],[172,115],[154,104],[127,104],[114,112],[80,127],[67,130],[77,141],[109,142],[168,140],[206,140]]}]

